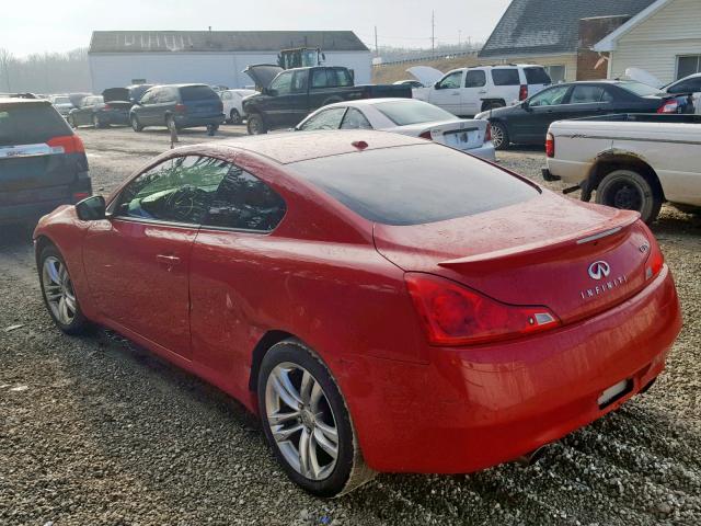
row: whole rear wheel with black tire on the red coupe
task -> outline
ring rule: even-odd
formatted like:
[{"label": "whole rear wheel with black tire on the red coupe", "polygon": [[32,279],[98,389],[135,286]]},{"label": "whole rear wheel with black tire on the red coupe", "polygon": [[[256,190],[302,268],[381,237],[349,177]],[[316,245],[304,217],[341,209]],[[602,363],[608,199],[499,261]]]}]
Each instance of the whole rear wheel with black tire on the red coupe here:
[{"label": "whole rear wheel with black tire on the red coupe", "polygon": [[257,396],[271,448],[287,476],[304,490],[337,496],[375,477],[363,459],[335,380],[301,342],[285,340],[267,351]]}]

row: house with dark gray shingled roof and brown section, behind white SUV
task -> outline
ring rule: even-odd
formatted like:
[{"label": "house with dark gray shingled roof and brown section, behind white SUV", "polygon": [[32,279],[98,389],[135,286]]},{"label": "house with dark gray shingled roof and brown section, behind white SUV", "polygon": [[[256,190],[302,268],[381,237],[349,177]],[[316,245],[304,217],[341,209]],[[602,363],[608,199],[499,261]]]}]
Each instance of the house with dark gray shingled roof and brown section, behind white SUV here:
[{"label": "house with dark gray shingled roof and brown section, behind white SUV", "polygon": [[606,78],[591,47],[655,0],[513,0],[479,54],[483,64],[541,64],[554,81]]}]

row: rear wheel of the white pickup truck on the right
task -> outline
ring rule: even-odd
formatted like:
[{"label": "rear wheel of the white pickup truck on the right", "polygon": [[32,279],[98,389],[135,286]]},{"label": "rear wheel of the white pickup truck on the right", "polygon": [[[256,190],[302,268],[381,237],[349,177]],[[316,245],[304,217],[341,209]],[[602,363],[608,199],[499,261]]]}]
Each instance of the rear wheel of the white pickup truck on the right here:
[{"label": "rear wheel of the white pickup truck on the right", "polygon": [[651,224],[662,208],[662,193],[639,172],[614,170],[599,183],[596,202],[623,210],[640,211],[643,221]]}]

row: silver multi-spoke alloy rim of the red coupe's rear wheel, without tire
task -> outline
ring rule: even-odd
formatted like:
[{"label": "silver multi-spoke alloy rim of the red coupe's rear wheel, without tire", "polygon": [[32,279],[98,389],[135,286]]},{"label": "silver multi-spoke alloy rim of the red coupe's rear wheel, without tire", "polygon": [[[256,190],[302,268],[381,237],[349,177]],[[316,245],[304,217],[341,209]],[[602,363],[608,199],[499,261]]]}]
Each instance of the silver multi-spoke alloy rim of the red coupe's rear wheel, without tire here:
[{"label": "silver multi-spoke alloy rim of the red coupe's rear wheel, without tire", "polygon": [[276,446],[289,466],[310,480],[326,479],[338,458],[336,419],[321,384],[285,362],[268,375],[265,412]]}]

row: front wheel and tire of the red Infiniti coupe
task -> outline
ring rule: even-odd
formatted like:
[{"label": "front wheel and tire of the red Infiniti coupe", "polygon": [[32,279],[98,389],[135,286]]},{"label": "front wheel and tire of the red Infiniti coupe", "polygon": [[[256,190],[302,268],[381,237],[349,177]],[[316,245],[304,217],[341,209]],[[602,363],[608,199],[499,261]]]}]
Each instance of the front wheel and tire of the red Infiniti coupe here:
[{"label": "front wheel and tire of the red Infiniti coupe", "polygon": [[80,334],[89,322],[80,309],[64,256],[53,244],[45,247],[38,261],[44,305],[56,325],[67,334]]}]

